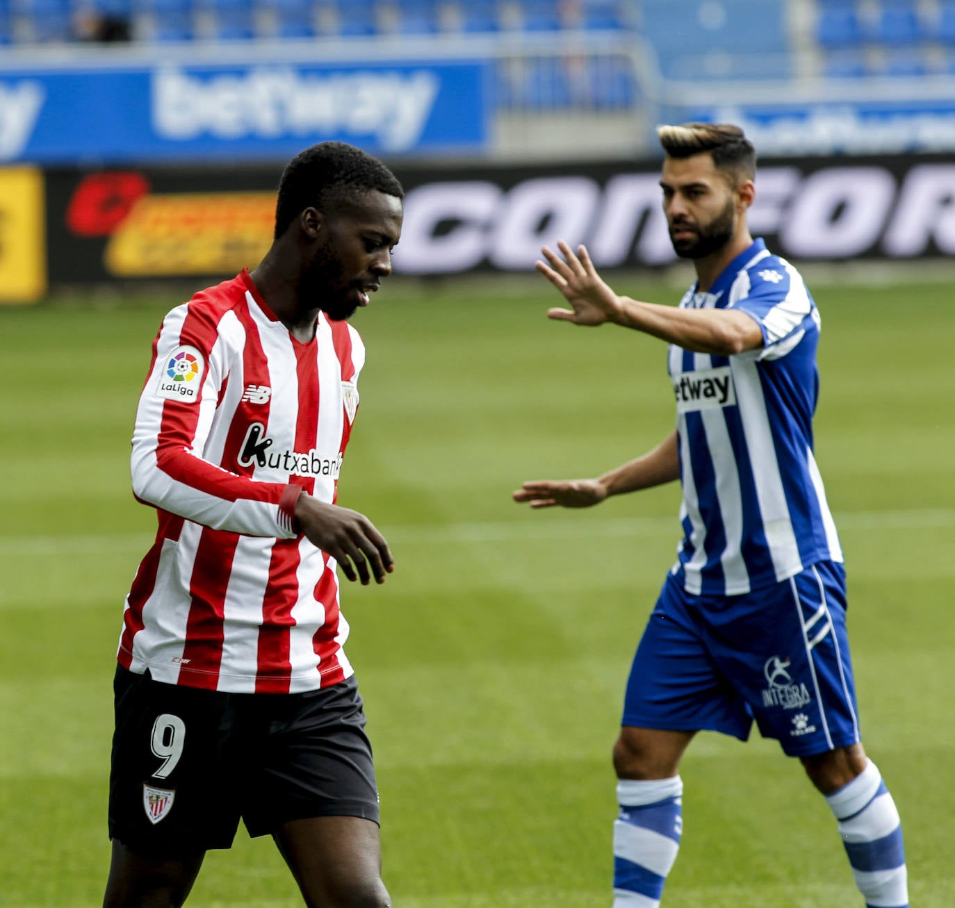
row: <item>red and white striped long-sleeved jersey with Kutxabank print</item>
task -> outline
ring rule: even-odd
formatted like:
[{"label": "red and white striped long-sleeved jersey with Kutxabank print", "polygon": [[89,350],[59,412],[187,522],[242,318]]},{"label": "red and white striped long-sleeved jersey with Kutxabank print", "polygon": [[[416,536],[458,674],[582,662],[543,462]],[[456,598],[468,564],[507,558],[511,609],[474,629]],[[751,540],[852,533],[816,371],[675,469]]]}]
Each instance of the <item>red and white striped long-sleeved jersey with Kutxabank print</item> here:
[{"label": "red and white striped long-sleeved jersey with Kutxabank print", "polygon": [[157,681],[287,693],[352,674],[335,560],[293,529],[335,501],[365,348],[319,315],[295,340],[246,271],[166,315],[139,398],[133,490],[159,514],[119,664]]}]

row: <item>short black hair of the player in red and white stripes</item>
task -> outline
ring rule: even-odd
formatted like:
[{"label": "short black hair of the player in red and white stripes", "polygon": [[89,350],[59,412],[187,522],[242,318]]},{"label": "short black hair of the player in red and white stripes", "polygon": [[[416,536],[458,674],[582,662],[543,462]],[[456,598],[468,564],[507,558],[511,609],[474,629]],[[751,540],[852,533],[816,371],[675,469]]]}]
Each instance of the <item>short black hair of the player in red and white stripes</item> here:
[{"label": "short black hair of the player in red and white stripes", "polygon": [[401,183],[378,158],[345,142],[319,142],[292,158],[279,180],[275,237],[309,206],[332,214],[343,202],[377,190],[403,199]]}]

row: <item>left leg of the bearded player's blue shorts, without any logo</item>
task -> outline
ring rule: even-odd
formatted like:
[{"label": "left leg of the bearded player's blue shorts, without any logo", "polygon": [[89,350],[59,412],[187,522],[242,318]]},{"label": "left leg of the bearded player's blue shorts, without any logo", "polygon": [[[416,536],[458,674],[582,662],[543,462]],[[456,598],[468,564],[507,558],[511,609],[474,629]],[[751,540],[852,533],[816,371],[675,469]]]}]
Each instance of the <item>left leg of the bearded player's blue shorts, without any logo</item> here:
[{"label": "left leg of the bearded player's blue shorts, without any logo", "polygon": [[664,583],[633,657],[621,724],[745,740],[753,718],[711,657],[694,599],[671,578]]}]

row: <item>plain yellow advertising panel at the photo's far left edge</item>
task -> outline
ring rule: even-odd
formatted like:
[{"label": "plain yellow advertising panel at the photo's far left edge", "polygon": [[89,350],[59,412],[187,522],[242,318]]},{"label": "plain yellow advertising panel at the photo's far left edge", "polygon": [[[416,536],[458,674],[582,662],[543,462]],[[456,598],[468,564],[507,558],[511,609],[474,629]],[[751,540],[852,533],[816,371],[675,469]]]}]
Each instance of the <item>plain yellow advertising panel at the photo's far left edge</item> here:
[{"label": "plain yellow advertising panel at the photo's far left edge", "polygon": [[47,292],[46,201],[35,167],[0,167],[0,303]]}]

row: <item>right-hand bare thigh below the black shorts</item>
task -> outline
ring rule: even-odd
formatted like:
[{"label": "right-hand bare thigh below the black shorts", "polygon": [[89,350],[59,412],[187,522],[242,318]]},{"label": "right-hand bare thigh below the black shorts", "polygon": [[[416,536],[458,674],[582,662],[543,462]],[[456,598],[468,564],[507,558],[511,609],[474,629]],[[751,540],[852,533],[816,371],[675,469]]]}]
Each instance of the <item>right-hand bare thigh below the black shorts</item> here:
[{"label": "right-hand bare thigh below the black shorts", "polygon": [[291,820],[274,834],[308,908],[386,908],[378,824],[357,816]]}]

